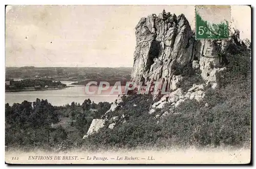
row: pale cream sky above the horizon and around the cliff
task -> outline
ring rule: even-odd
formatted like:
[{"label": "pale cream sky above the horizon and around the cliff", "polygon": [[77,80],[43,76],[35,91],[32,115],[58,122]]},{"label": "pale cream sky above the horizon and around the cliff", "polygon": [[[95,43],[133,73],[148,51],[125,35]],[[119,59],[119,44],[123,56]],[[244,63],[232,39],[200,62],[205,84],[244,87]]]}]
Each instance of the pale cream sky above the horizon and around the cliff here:
[{"label": "pale cream sky above the horizon and around the cliff", "polygon": [[[195,6],[7,6],[6,66],[132,67],[135,26],[163,9],[195,28]],[[231,17],[250,40],[250,7],[232,6]]]}]

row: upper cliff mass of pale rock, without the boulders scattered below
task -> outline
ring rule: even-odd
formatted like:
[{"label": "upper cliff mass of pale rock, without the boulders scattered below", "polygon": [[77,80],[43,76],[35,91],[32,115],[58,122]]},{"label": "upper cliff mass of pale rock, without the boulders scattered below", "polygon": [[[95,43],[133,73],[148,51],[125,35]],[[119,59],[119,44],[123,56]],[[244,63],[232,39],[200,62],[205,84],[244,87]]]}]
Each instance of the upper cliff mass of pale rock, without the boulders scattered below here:
[{"label": "upper cliff mass of pale rock, without the boulders scattered below", "polygon": [[[167,89],[174,91],[179,76],[187,65],[200,68],[202,78],[212,88],[218,85],[218,74],[225,58],[221,53],[229,41],[241,45],[239,32],[233,31],[228,40],[196,40],[186,17],[181,14],[160,13],[140,19],[136,29],[136,50],[132,80],[149,82],[162,80]],[[237,35],[238,34],[238,35]],[[243,43],[250,46],[249,42]]]}]

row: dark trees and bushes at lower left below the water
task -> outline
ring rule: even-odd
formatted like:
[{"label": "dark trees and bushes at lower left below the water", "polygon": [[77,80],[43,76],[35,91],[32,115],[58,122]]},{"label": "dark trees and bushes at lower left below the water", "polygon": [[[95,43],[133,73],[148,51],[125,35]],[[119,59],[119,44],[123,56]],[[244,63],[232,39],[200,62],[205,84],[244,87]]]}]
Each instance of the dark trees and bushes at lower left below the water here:
[{"label": "dark trees and bushes at lower left below the water", "polygon": [[[58,150],[71,148],[81,140],[93,119],[100,118],[110,103],[90,99],[80,105],[52,106],[47,100],[5,105],[6,148]],[[63,119],[69,119],[63,124]],[[77,142],[76,142],[77,141]]]}]

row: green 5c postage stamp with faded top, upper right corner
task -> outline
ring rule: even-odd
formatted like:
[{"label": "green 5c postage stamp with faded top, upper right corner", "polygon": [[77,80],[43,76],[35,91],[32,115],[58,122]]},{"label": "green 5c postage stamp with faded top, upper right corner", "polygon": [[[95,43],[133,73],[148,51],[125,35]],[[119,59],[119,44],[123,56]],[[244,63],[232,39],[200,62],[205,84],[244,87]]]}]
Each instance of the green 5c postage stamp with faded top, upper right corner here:
[{"label": "green 5c postage stamp with faded top, upper right corner", "polygon": [[230,18],[230,6],[196,6],[196,39],[228,38]]}]

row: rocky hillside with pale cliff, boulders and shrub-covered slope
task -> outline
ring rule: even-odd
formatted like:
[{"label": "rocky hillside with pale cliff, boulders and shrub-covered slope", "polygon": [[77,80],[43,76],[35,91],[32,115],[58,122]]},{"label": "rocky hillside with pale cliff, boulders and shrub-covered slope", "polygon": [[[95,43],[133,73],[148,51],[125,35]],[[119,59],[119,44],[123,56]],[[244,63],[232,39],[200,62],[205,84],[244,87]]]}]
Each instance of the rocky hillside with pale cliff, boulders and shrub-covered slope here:
[{"label": "rocky hillside with pale cliff, boulders and shrub-covered slope", "polygon": [[249,147],[251,51],[239,31],[196,40],[183,14],[149,15],[135,29],[132,80],[166,82],[170,93],[122,96],[93,120],[84,149]]}]

